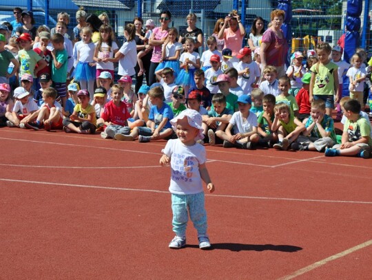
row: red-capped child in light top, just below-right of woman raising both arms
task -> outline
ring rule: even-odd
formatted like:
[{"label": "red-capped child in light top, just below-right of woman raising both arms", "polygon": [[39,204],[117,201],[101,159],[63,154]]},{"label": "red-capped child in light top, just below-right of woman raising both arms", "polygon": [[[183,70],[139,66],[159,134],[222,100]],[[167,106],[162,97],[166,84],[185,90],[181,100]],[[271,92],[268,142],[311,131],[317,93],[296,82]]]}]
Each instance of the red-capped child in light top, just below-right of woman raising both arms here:
[{"label": "red-capped child in light top, just below-right of woman raising both arms", "polygon": [[239,75],[238,85],[242,87],[244,94],[250,95],[252,88],[256,87],[258,80],[260,80],[260,67],[252,61],[252,52],[249,47],[243,47],[236,57],[240,59],[236,67]]}]

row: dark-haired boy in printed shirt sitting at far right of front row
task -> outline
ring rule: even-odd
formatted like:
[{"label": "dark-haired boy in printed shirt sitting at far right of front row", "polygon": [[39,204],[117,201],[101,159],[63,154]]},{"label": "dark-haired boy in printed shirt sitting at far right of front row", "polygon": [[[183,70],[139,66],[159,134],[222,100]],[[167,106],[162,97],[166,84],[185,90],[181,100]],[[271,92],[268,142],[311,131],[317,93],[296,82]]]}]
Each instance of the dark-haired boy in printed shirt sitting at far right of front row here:
[{"label": "dark-haired boy in printed shirt sitting at far right of front row", "polygon": [[359,101],[356,99],[347,100],[342,109],[344,116],[347,117],[342,133],[342,143],[336,144],[332,149],[326,149],[324,155],[356,155],[360,158],[369,158],[372,147],[371,127],[360,115]]}]

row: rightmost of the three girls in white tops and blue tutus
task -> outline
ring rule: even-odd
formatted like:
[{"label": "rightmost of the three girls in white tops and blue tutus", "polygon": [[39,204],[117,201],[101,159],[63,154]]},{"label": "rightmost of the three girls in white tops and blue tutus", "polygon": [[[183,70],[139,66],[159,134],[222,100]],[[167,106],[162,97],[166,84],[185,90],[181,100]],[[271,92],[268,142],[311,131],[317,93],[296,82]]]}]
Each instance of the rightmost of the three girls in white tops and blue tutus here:
[{"label": "rightmost of the three girls in white tops and blue tutus", "polygon": [[194,52],[195,41],[192,38],[185,40],[186,52],[180,56],[180,74],[176,78],[176,85],[182,85],[185,92],[189,92],[191,87],[196,87],[194,81],[195,69],[200,68],[200,56]]}]

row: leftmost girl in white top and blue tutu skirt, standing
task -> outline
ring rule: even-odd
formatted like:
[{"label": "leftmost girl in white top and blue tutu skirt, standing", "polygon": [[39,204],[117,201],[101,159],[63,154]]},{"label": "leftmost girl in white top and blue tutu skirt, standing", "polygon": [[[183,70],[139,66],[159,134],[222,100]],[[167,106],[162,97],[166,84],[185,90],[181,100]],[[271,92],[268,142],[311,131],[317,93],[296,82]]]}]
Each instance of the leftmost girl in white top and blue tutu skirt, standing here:
[{"label": "leftmost girl in white top and blue tutu skirt, standing", "polygon": [[74,80],[80,83],[81,89],[87,89],[90,99],[94,99],[94,80],[96,79],[96,63],[94,63],[95,45],[92,42],[92,30],[89,27],[81,28],[81,41],[76,43],[77,65]]}]

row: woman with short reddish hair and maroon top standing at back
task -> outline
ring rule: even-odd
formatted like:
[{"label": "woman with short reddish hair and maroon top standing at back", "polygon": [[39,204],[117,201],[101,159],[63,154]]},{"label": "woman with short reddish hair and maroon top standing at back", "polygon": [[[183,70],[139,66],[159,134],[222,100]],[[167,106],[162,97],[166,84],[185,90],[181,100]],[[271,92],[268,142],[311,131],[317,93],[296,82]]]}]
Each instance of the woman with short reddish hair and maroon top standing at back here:
[{"label": "woman with short reddish hair and maroon top standing at back", "polygon": [[263,34],[260,46],[262,68],[265,68],[266,65],[273,65],[276,67],[278,77],[285,76],[285,61],[288,52],[287,39],[280,29],[284,18],[285,12],[283,10],[271,12],[271,26]]}]

